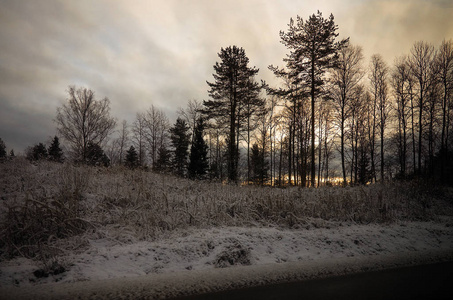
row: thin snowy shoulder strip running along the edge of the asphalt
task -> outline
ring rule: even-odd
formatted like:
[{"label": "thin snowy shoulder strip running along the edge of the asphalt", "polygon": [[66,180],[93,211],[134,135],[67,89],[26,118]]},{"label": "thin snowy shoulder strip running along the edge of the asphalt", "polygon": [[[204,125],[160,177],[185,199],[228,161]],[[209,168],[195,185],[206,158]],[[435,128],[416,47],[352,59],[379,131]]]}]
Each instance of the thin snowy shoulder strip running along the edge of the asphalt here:
[{"label": "thin snowy shoulder strip running along the edge of the asphalt", "polygon": [[453,250],[236,266],[32,287],[0,287],[0,299],[169,299],[447,261],[453,261]]}]

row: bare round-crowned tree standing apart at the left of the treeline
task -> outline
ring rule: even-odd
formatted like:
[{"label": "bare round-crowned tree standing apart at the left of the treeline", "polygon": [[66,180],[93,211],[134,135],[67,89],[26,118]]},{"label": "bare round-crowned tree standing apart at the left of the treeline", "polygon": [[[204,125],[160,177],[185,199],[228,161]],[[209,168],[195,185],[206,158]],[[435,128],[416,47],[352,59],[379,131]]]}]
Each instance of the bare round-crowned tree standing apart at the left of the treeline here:
[{"label": "bare round-crowned tree standing apart at the left of the treeline", "polygon": [[85,160],[89,143],[102,145],[115,128],[108,98],[96,100],[94,92],[70,86],[67,103],[57,108],[58,133],[69,143],[74,158]]}]

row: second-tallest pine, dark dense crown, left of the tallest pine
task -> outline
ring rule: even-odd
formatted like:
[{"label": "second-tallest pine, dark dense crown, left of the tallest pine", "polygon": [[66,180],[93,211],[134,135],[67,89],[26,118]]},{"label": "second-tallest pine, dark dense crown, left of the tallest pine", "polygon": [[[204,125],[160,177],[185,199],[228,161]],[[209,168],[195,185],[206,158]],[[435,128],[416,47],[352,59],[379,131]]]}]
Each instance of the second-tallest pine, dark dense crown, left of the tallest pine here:
[{"label": "second-tallest pine, dark dense crown, left of the tallest pine", "polygon": [[[221,62],[214,65],[214,82],[207,82],[212,100],[203,101],[204,114],[218,125],[228,128],[228,179],[237,181],[239,164],[239,132],[244,120],[245,101],[256,97],[261,89],[254,81],[258,69],[248,66],[249,59],[243,48],[230,46],[218,54]],[[250,102],[251,103],[251,102]]]}]

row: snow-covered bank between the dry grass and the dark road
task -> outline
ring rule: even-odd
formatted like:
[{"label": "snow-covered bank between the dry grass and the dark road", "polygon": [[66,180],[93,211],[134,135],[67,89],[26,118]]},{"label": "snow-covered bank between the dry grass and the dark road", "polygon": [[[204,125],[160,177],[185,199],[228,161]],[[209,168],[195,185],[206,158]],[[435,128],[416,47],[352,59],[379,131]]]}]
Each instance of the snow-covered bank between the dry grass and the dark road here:
[{"label": "snow-covered bank between the dry grass and the dark road", "polygon": [[[46,278],[25,258],[0,262],[0,298],[166,298],[453,259],[452,218],[317,228],[188,228],[154,241],[88,236]],[[143,296],[143,295],[146,295]]]}]

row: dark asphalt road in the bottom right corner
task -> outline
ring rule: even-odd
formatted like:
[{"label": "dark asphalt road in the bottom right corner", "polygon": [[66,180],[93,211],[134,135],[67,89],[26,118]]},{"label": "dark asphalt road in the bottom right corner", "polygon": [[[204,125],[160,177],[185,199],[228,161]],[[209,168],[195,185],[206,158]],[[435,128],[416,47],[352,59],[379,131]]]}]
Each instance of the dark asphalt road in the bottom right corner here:
[{"label": "dark asphalt road in the bottom right corner", "polygon": [[253,287],[178,299],[453,299],[453,262]]}]

